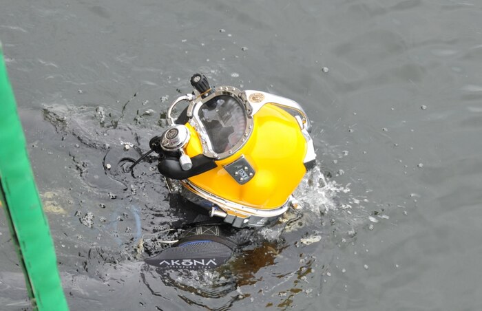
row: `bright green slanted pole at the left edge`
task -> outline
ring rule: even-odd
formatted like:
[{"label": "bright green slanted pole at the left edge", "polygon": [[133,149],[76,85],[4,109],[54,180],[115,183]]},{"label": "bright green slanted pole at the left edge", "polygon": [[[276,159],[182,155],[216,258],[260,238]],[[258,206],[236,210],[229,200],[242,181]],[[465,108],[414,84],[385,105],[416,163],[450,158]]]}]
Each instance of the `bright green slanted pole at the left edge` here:
[{"label": "bright green slanted pole at the left edge", "polygon": [[0,205],[34,310],[68,310],[0,43]]}]

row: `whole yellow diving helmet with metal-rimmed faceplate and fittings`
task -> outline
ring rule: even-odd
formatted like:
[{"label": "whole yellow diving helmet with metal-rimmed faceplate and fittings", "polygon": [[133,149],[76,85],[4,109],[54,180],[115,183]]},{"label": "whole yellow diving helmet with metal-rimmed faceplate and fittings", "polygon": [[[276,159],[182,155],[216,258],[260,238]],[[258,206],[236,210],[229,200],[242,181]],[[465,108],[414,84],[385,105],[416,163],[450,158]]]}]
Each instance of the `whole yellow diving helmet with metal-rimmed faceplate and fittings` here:
[{"label": "whole yellow diving helmet with metal-rimmed faceplate and fittings", "polygon": [[[169,107],[169,127],[149,142],[169,190],[237,228],[273,222],[315,164],[304,110],[266,92],[210,87],[202,74],[191,85]],[[181,102],[188,105],[175,120]]]}]

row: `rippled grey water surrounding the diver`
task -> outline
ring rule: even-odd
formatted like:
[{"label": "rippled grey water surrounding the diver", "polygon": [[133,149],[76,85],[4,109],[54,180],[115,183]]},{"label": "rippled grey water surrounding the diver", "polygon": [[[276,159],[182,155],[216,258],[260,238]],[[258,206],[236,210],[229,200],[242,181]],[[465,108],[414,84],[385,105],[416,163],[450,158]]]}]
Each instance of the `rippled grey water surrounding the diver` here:
[{"label": "rippled grey water surrounding the diver", "polygon": [[[3,0],[0,39],[71,310],[482,309],[479,1]],[[103,158],[145,151],[193,72],[301,103],[319,171],[230,266],[161,275],[142,259],[182,204]]]}]

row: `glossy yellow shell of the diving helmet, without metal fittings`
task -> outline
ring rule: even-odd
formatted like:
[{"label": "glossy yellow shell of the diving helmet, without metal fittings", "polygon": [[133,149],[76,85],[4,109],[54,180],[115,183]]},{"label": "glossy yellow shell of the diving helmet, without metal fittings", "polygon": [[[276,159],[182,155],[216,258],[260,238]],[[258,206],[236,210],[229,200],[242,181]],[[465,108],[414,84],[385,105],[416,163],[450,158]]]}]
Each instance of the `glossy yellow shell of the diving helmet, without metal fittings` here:
[{"label": "glossy yellow shell of the diving helmet, without metal fittings", "polygon": [[[191,139],[185,152],[193,158],[202,153],[202,145],[196,130],[189,123],[186,126]],[[258,210],[280,208],[306,173],[307,149],[300,122],[279,105],[267,103],[253,115],[253,130],[244,145],[231,156],[216,160],[215,169],[189,178],[185,185],[240,206]],[[245,184],[238,183],[225,169],[242,157],[254,170]]]}]

